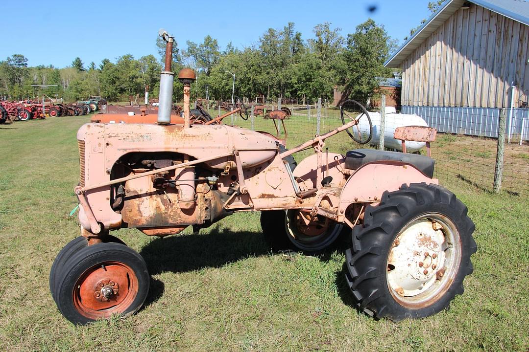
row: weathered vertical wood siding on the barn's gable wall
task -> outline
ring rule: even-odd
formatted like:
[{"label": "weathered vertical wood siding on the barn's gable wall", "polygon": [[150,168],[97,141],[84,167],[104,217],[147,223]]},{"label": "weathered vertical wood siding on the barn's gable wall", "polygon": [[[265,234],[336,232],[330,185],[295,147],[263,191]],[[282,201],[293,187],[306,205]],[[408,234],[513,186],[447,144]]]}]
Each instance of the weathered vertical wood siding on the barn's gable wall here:
[{"label": "weathered vertical wood siding on the barn's gable wall", "polygon": [[472,4],[459,9],[403,62],[402,104],[508,107],[529,93],[529,26]]}]

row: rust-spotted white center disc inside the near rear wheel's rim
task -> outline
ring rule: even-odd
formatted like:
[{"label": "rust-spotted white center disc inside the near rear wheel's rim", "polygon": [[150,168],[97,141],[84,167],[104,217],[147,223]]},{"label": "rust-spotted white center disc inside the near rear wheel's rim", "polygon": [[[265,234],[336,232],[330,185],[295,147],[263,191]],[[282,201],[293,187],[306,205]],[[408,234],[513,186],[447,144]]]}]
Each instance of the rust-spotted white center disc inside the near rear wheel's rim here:
[{"label": "rust-spotted white center disc inside the near rear wheel's rim", "polygon": [[432,287],[445,271],[448,248],[443,226],[417,222],[400,233],[388,258],[388,284],[401,297],[414,297]]}]

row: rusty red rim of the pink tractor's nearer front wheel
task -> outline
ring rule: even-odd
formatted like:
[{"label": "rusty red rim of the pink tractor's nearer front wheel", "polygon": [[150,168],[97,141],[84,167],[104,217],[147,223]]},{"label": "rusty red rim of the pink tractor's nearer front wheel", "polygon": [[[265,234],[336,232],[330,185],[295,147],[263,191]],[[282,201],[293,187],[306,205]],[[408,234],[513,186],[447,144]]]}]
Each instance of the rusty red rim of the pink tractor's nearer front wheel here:
[{"label": "rusty red rim of the pink tractor's nearer front wheel", "polygon": [[74,306],[87,318],[109,318],[130,307],[138,288],[138,278],[128,265],[104,262],[89,268],[77,280],[73,291]]}]

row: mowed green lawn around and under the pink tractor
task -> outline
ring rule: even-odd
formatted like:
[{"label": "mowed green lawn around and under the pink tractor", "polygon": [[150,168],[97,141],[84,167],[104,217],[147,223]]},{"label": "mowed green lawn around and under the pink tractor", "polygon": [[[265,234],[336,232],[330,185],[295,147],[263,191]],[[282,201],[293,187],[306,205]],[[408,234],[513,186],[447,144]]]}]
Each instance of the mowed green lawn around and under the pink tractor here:
[{"label": "mowed green lawn around and under the pink tractor", "polygon": [[50,296],[48,275],[79,234],[69,213],[76,131],[88,120],[0,125],[0,350],[529,350],[529,202],[455,179],[442,183],[468,205],[479,248],[465,293],[436,316],[395,323],[359,313],[343,280],[348,236],[320,258],[271,254],[259,213],[241,213],[199,235],[114,233],[147,261],[145,307],[72,326]]}]

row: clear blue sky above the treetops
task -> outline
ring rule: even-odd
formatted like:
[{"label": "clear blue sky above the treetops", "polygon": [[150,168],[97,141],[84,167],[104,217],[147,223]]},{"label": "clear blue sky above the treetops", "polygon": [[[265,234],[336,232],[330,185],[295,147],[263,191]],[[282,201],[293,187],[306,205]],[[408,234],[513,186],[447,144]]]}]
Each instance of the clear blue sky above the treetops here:
[{"label": "clear blue sky above the treetops", "polygon": [[[221,49],[256,44],[270,27],[294,22],[306,40],[318,23],[331,22],[342,35],[368,17],[384,24],[400,43],[430,14],[428,0],[354,1],[2,1],[0,60],[23,54],[29,65],[62,68],[79,56],[85,63],[132,54],[154,54],[159,28],[175,35],[180,48],[209,34]],[[368,11],[377,6],[374,13]]]}]

